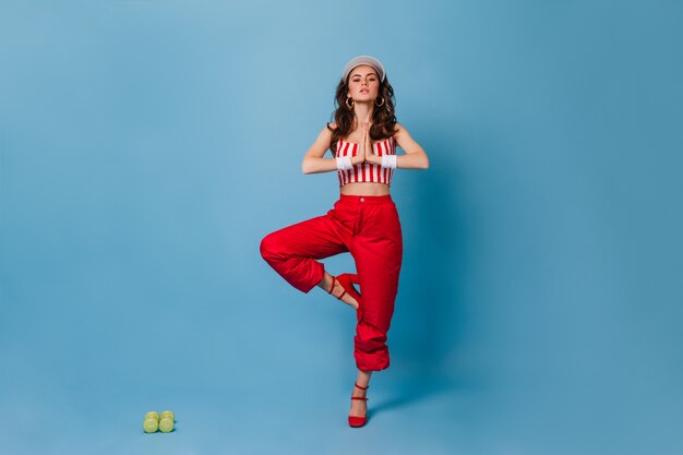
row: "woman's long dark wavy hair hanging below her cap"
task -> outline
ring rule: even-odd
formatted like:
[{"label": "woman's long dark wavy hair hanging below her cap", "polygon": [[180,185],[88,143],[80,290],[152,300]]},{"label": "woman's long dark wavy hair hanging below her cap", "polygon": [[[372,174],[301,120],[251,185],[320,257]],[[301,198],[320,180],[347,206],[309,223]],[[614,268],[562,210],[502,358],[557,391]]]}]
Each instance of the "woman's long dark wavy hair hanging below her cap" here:
[{"label": "woman's long dark wavy hair hanging below her cap", "polygon": [[[350,74],[349,74],[350,76]],[[333,155],[337,154],[337,143],[340,139],[346,137],[358,125],[356,124],[356,116],[354,115],[354,108],[349,108],[346,104],[346,95],[349,89],[349,76],[346,80],[340,80],[337,85],[337,93],[335,95],[335,109],[333,116],[337,123],[337,128],[327,129],[332,131],[332,140],[329,149]],[[384,105],[378,106],[375,104],[372,109],[372,125],[370,127],[370,139],[373,141],[381,141],[394,135],[396,129],[396,115],[394,112],[394,87],[388,83],[388,77],[384,77],[384,81],[380,82],[380,89],[378,91],[378,98],[384,98]]]}]

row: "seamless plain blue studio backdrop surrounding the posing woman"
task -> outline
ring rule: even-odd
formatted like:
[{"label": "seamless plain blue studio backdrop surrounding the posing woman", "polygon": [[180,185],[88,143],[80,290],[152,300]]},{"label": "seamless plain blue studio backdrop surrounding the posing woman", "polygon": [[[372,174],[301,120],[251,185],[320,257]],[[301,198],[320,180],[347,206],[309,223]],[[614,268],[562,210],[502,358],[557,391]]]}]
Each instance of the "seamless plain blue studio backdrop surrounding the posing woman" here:
[{"label": "seamless plain blue studio backdrop surrounding the posing woman", "polygon": [[[0,440],[681,453],[682,22],[674,1],[2,1]],[[395,175],[393,366],[350,436],[354,316],[259,242],[336,200],[300,161],[360,53],[431,168]],[[140,434],[155,407],[172,444]]]}]

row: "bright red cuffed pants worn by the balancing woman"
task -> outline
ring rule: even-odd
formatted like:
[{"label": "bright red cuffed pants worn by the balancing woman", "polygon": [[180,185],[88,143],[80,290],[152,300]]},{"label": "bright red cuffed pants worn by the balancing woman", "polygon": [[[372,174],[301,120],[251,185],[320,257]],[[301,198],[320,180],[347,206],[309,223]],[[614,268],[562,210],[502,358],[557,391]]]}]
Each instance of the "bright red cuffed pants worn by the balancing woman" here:
[{"label": "bright red cuffed pants worn by the balancing woman", "polygon": [[354,338],[356,364],[363,371],[388,367],[388,332],[403,260],[403,237],[390,195],[342,194],[326,215],[268,234],[261,255],[291,286],[309,292],[323,279],[316,260],[350,252],[362,303]]}]

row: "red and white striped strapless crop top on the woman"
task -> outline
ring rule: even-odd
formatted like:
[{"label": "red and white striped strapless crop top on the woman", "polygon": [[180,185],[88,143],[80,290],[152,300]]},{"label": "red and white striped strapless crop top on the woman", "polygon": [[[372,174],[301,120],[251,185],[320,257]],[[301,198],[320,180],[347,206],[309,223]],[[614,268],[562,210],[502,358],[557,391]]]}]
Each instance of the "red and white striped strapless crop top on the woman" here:
[{"label": "red and white striped strapless crop top on the woman", "polygon": [[[396,141],[394,137],[387,137],[384,141],[375,142],[372,144],[374,154],[382,155],[396,155]],[[356,142],[346,142],[339,140],[337,143],[336,158],[343,156],[356,156],[360,148],[360,144]],[[392,176],[394,169],[383,168],[380,165],[372,163],[361,163],[354,165],[349,170],[337,170],[339,177],[339,187],[344,187],[347,183],[386,183],[391,187]]]}]

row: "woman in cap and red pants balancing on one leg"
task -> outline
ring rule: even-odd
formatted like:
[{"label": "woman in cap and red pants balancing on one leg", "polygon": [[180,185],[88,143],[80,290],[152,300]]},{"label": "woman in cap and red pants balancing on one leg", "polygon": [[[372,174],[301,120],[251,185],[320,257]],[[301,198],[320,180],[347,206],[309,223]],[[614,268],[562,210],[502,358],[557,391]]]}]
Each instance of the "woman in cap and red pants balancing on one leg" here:
[{"label": "woman in cap and red pants balancing on one leg", "polygon": [[[370,376],[390,364],[386,333],[403,258],[391,180],[395,168],[429,167],[422,147],[396,122],[393,98],[379,60],[359,56],[345,65],[336,91],[336,121],[323,128],[301,164],[303,173],[336,170],[339,200],[326,215],[272,232],[261,242],[264,260],[293,287],[309,292],[317,286],[356,309],[358,378],[351,427],[366,424]],[[405,155],[396,155],[396,145]],[[333,158],[323,157],[327,149]],[[354,256],[357,274],[335,277],[317,261],[343,252]]]}]

